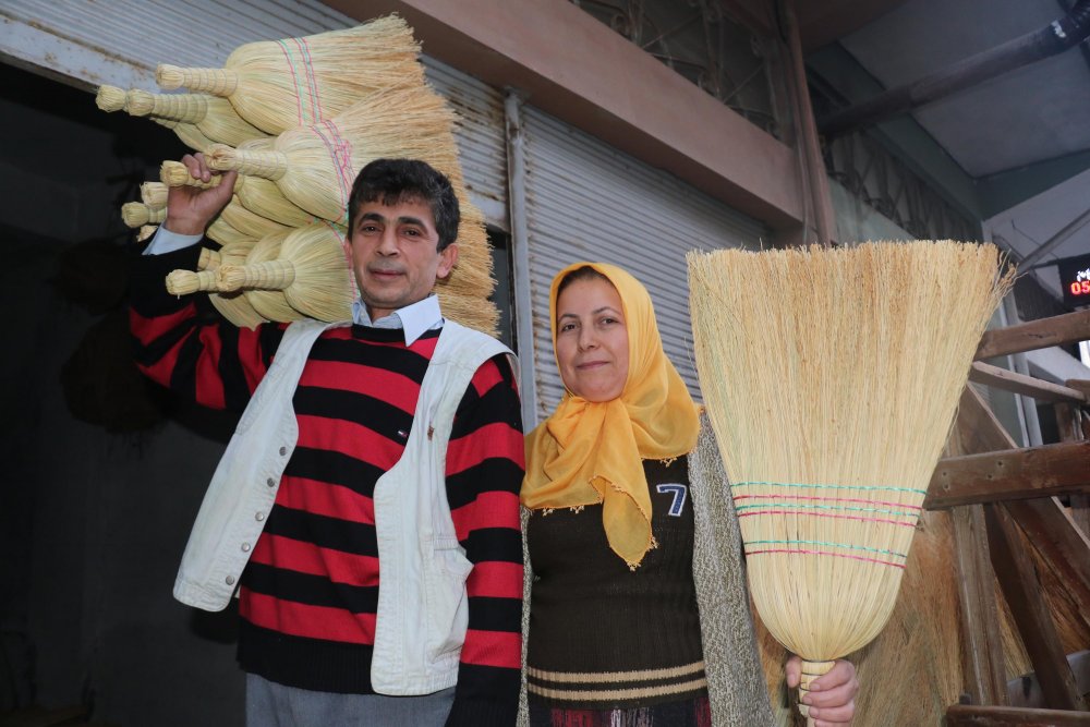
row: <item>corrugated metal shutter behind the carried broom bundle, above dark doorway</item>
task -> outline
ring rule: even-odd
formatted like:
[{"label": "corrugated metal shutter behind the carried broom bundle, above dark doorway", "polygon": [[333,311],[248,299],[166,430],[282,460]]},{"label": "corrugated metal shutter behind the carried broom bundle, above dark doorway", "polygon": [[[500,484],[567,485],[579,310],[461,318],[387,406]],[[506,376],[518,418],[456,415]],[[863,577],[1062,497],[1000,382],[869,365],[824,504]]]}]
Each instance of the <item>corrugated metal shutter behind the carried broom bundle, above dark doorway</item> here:
[{"label": "corrugated metal shutter behind the carried broom bundle, above dark doorway", "polygon": [[[5,0],[0,56],[68,83],[155,90],[158,63],[219,66],[252,40],[312,35],[356,21],[316,0]],[[500,94],[425,58],[433,86],[461,116],[456,135],[473,202],[507,229],[507,146]],[[92,102],[88,99],[88,104]]]}]

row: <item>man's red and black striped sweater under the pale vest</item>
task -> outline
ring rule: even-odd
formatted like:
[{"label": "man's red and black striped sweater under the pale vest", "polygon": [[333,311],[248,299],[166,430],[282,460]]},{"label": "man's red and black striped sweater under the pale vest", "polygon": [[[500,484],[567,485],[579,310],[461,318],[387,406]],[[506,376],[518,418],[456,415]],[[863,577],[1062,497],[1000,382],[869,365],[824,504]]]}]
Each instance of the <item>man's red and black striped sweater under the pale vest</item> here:
[{"label": "man's red and black striped sweater under the pale vest", "polygon": [[[283,325],[239,329],[164,289],[196,247],[134,264],[131,326],[150,378],[242,410]],[[315,691],[373,693],[380,564],[372,493],[401,457],[439,330],[405,346],[400,329],[335,328],[315,342],[293,405],[299,440],[240,587],[242,667]],[[519,397],[507,362],[477,369],[455,415],[446,489],[473,564],[469,630],[448,725],[509,725],[519,692],[523,475]]]}]

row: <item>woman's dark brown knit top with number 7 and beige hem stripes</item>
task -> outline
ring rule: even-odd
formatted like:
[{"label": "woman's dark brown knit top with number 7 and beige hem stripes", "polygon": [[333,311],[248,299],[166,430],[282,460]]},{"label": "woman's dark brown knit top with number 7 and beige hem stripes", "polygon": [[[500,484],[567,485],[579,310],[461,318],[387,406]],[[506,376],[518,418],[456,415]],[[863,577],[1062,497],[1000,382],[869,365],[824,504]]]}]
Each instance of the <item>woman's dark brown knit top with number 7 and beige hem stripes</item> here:
[{"label": "woman's dark brown knit top with number 7 and beige hem stripes", "polygon": [[610,708],[706,693],[688,460],[645,461],[644,473],[658,545],[634,571],[609,548],[601,505],[532,512],[531,700]]}]

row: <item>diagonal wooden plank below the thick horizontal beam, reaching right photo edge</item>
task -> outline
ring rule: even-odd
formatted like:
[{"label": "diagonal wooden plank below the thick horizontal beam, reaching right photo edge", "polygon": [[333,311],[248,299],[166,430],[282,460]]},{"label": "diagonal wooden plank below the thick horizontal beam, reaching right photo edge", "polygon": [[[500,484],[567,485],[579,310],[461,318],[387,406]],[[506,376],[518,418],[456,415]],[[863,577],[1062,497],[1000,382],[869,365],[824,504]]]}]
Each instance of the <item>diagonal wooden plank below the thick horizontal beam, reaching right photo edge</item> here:
[{"label": "diagonal wooden plank below the thick horizontal beam, reaching right photo edge", "polygon": [[1064,584],[1080,614],[1090,614],[1090,540],[1054,497],[1008,500],[1003,507]]}]

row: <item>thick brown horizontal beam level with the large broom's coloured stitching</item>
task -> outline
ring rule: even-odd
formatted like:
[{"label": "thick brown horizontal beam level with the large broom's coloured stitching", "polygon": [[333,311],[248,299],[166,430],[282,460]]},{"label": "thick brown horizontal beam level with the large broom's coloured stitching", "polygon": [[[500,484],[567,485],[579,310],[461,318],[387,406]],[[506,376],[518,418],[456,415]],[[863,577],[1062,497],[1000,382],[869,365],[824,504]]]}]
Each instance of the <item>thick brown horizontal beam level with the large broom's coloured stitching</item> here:
[{"label": "thick brown horizontal beam level with the large broom's coloured stitching", "polygon": [[1090,493],[1090,441],[1007,449],[938,461],[923,507]]}]

